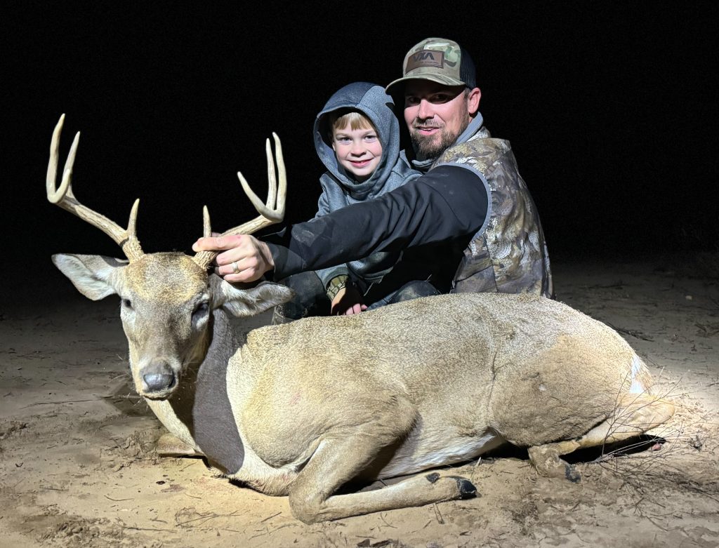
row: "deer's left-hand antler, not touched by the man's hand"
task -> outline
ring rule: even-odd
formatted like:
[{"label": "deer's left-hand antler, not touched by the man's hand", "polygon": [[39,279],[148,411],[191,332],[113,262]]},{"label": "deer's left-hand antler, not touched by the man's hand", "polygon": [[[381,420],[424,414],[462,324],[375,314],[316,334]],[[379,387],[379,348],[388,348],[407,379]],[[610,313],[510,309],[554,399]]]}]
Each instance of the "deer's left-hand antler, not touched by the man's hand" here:
[{"label": "deer's left-hand antler, not touched by the man's hand", "polygon": [[122,251],[124,251],[125,256],[127,256],[127,259],[129,259],[130,262],[136,261],[144,255],[142,248],[139,246],[139,241],[137,241],[135,230],[139,200],[135,200],[132,205],[126,230],[109,220],[109,218],[106,218],[104,215],[101,215],[90,208],[86,208],[86,206],[79,203],[77,198],[75,198],[75,195],[73,195],[73,165],[75,164],[75,154],[77,154],[78,143],[80,141],[79,131],[75,134],[75,139],[73,140],[72,147],[70,147],[68,159],[65,160],[63,180],[60,183],[60,187],[55,188],[58,173],[60,133],[63,131],[64,121],[65,114],[60,116],[60,120],[55,126],[55,131],[52,132],[52,141],[50,142],[50,162],[47,164],[47,200],[49,200],[50,203],[59,205],[60,208],[63,208],[64,210],[68,210],[70,213],[73,213],[73,215],[77,215],[79,218],[90,223],[92,226],[99,228],[101,231],[110,236],[115,243],[122,247]]}]

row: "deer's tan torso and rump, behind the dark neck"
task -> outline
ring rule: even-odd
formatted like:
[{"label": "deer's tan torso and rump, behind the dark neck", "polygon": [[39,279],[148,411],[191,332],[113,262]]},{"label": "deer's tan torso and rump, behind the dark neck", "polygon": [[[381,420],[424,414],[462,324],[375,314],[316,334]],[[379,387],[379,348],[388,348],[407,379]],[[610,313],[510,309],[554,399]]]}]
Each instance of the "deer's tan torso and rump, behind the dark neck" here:
[{"label": "deer's tan torso and rump, behind the dark neck", "polygon": [[325,437],[375,423],[397,443],[369,479],[459,463],[505,440],[581,436],[610,417],[632,379],[648,389],[644,364],[605,325],[505,294],[260,328],[226,376],[242,440],[273,468],[302,465]]}]

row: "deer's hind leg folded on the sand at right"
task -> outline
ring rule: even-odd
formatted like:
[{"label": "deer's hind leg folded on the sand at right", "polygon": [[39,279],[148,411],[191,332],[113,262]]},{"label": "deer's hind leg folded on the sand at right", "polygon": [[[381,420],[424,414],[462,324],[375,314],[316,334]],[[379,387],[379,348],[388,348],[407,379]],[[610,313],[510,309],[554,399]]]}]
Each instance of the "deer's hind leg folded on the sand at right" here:
[{"label": "deer's hind leg folded on the sand at right", "polygon": [[656,399],[649,394],[622,394],[615,411],[608,419],[575,440],[529,447],[529,460],[539,475],[567,478],[577,482],[580,480],[579,473],[560,458],[562,455],[583,447],[597,447],[628,440],[667,422],[673,414],[674,406],[668,401]]}]

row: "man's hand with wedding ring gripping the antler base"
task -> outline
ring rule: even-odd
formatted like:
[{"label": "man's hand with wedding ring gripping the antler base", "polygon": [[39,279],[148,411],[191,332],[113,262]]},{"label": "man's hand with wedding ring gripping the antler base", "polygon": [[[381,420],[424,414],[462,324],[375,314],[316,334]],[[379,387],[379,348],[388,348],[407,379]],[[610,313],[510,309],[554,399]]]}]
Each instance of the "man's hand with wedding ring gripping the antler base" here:
[{"label": "man's hand with wedding ring gripping the antler base", "polygon": [[249,234],[199,238],[193,251],[218,251],[215,274],[227,282],[255,282],[275,268],[267,244]]}]

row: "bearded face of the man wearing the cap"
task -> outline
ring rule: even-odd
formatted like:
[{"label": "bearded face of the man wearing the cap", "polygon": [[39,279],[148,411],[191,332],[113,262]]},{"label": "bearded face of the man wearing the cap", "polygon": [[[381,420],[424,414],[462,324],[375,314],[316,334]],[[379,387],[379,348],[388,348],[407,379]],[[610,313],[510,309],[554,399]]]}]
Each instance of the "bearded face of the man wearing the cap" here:
[{"label": "bearded face of the man wearing the cap", "polygon": [[419,159],[436,158],[467,129],[480,106],[480,90],[463,85],[409,80],[405,86],[405,121]]}]

